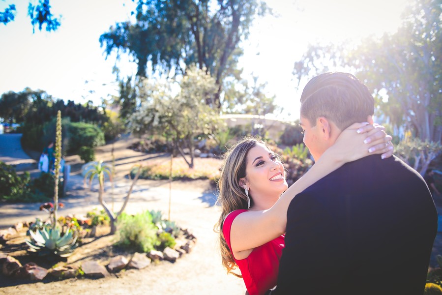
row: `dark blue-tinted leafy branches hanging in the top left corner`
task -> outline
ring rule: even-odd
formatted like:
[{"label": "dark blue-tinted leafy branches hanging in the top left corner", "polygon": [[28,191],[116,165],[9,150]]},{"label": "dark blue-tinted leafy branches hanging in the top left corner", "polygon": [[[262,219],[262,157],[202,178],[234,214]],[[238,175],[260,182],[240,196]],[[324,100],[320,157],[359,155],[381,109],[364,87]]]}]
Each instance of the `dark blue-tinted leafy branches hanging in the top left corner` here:
[{"label": "dark blue-tinted leafy branches hanging in the top left corner", "polygon": [[[29,1],[28,16],[33,32],[35,32],[35,26],[38,26],[38,29],[41,31],[43,25],[46,25],[46,31],[48,32],[59,28],[59,18],[54,18],[49,2],[50,0],[38,0],[38,4],[33,5],[33,1]],[[13,22],[16,11],[15,4],[9,4],[3,12],[0,12],[0,23],[6,25],[9,22]]]}]

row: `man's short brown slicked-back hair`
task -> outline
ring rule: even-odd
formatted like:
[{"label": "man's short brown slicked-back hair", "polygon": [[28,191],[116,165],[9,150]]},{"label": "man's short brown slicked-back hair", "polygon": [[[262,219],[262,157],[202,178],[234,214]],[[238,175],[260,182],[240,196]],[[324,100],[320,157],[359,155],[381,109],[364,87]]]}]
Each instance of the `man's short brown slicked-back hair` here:
[{"label": "man's short brown slicked-back hair", "polygon": [[375,102],[368,88],[349,73],[324,73],[311,79],[301,95],[301,116],[312,126],[325,117],[343,130],[365,122],[374,114]]}]

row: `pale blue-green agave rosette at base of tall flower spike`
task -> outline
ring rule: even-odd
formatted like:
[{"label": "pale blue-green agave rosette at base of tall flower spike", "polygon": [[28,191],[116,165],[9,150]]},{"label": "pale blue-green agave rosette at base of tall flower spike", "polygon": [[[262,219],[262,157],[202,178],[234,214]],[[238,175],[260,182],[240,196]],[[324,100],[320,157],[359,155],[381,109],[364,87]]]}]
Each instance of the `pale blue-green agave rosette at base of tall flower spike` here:
[{"label": "pale blue-green agave rosette at base of tall flower spike", "polygon": [[29,231],[30,240],[26,240],[29,251],[37,252],[38,255],[54,254],[60,257],[68,257],[77,248],[77,235],[68,229],[61,236],[59,228],[43,227],[35,233]]}]

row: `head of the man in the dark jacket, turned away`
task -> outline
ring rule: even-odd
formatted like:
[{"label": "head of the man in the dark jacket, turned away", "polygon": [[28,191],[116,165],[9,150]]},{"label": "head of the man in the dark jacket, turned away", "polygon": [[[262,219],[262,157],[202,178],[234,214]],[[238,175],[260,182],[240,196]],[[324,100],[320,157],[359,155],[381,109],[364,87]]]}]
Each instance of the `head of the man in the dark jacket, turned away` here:
[{"label": "head of the man in the dark jacket, turned away", "polygon": [[311,79],[301,95],[304,143],[315,160],[355,122],[373,123],[374,99],[349,73],[325,73]]}]

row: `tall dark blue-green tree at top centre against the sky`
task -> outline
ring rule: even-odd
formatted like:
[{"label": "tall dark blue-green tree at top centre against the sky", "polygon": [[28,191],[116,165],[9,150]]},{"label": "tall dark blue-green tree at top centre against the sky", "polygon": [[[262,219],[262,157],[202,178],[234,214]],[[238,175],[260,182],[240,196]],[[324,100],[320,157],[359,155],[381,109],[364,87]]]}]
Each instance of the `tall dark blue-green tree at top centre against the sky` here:
[{"label": "tall dark blue-green tree at top centre against the sky", "polygon": [[133,0],[136,22],[117,23],[100,36],[108,57],[113,51],[128,52],[138,63],[137,76],[153,72],[184,75],[197,64],[215,79],[217,91],[211,104],[221,108],[223,81],[235,76],[242,51],[256,15],[269,11],[259,0]]}]

